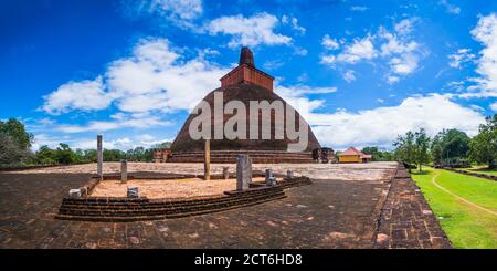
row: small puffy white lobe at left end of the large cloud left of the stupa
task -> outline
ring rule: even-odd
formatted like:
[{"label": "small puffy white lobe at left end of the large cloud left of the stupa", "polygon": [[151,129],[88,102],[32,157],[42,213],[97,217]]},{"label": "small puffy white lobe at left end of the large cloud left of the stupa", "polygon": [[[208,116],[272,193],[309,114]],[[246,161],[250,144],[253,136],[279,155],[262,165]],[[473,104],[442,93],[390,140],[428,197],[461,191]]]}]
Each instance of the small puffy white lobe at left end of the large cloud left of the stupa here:
[{"label": "small puffy white lobe at left end of the large cloud left of the stupa", "polygon": [[52,115],[59,115],[73,110],[95,111],[109,106],[112,96],[105,91],[102,76],[95,80],[68,82],[56,91],[43,96],[41,110]]}]

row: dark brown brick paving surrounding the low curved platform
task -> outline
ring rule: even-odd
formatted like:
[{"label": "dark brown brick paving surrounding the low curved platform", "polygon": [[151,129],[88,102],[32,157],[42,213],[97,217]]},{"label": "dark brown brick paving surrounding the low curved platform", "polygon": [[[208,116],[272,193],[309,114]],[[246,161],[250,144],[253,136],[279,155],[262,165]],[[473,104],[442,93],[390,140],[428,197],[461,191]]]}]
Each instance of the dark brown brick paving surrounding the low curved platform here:
[{"label": "dark brown brick paving surrounding the low curved platform", "polygon": [[[441,231],[437,223],[431,223],[433,215],[414,213],[416,220],[402,216],[395,220],[400,226],[380,219],[383,205],[383,213],[405,199],[410,205],[425,205],[420,197],[402,194],[415,194],[413,186],[396,188],[395,179],[391,187],[392,164],[369,169],[348,166],[341,168],[343,173],[329,166],[329,171],[322,165],[303,167],[315,177],[314,184],[286,190],[285,199],[197,217],[117,223],[53,219],[62,197],[86,183],[88,174],[0,173],[0,248],[396,248],[402,246],[395,240],[403,240],[404,233],[411,237],[403,223],[415,221],[427,225],[424,231],[419,229],[421,240],[436,243],[436,237],[443,236],[436,231]],[[377,177],[343,178],[348,171]],[[394,230],[383,231],[384,227]],[[388,236],[382,246],[378,240],[383,236],[377,233]],[[420,247],[420,242],[409,244]]]}]

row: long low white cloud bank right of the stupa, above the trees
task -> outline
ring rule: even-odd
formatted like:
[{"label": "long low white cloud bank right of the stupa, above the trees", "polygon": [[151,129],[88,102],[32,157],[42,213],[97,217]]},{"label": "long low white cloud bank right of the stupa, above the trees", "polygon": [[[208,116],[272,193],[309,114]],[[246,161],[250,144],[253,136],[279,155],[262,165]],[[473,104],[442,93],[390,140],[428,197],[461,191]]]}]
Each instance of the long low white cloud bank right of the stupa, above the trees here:
[{"label": "long low white cloud bank right of the stupa, above the trees", "polygon": [[[457,116],[457,117],[454,117]],[[351,113],[308,114],[321,145],[345,148],[350,145],[379,145],[391,148],[398,135],[424,127],[430,135],[443,128],[458,128],[475,135],[484,116],[443,95],[408,97],[396,106]]]}]

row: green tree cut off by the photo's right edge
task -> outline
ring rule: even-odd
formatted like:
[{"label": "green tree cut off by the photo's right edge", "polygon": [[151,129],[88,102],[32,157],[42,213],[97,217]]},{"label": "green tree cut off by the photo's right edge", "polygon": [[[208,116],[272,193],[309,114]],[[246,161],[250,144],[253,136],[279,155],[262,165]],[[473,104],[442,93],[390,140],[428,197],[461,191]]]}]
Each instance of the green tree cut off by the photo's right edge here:
[{"label": "green tree cut off by the photo's right edge", "polygon": [[491,169],[497,168],[497,114],[486,117],[486,123],[479,126],[478,135],[470,140],[469,159],[487,163]]}]

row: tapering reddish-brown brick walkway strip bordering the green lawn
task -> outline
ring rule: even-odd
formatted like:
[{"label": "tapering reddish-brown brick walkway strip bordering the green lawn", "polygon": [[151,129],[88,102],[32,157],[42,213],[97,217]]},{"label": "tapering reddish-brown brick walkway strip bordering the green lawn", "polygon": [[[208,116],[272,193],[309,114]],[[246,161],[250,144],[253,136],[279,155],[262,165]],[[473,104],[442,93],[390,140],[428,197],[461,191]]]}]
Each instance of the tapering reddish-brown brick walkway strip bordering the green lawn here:
[{"label": "tapering reddish-brown brick walkway strip bordering the green lawn", "polygon": [[432,209],[405,168],[395,175],[381,210],[376,248],[451,248]]}]

